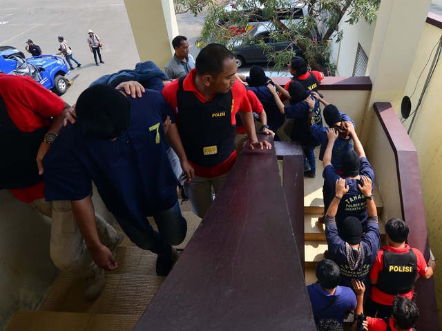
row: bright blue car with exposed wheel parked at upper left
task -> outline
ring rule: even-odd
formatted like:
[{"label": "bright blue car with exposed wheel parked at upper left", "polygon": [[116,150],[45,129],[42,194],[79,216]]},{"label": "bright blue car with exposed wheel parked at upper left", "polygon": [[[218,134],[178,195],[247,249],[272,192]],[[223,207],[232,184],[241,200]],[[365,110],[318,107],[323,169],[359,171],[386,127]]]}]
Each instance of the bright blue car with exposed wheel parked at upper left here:
[{"label": "bright blue car with exposed wheel parked at upper left", "polygon": [[38,57],[13,57],[5,59],[0,56],[0,72],[30,76],[48,90],[58,95],[64,94],[72,82],[66,79],[70,74],[64,59],[55,55],[39,55]]}]

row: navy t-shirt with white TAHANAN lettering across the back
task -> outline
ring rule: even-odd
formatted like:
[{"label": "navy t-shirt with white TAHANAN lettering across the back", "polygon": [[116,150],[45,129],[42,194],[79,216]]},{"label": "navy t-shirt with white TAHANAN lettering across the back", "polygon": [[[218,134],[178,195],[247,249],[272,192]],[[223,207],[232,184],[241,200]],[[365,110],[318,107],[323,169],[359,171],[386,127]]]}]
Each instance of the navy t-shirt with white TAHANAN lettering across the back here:
[{"label": "navy t-shirt with white TAHANAN lettering across the back", "polygon": [[[372,179],[372,188],[374,188],[374,171],[372,165],[365,157],[361,157],[359,166],[359,174]],[[327,165],[323,172],[324,188],[328,192],[331,192],[330,199],[336,194],[336,180],[341,177],[336,172],[336,168],[333,165]],[[344,194],[343,199],[340,200],[338,205],[338,212],[336,213],[336,223],[345,219],[345,217],[354,216],[357,217],[364,227],[367,223],[367,202],[365,201],[364,194],[358,188],[358,183],[362,185],[359,179],[345,179],[345,184],[349,186],[349,190]],[[324,201],[325,205],[329,205],[331,201]]]}]

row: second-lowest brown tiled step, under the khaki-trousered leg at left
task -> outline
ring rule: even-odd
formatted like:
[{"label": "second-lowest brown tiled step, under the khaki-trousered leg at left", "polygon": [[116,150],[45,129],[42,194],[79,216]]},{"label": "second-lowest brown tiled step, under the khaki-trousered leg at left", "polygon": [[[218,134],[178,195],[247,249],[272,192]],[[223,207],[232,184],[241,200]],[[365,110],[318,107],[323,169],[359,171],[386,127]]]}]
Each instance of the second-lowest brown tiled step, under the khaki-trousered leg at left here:
[{"label": "second-lowest brown tiled step, under the khaki-trousered leg at left", "polygon": [[48,290],[40,309],[89,314],[142,314],[155,297],[164,278],[109,272],[106,273],[102,295],[97,300],[88,302],[83,299],[83,279],[61,272]]}]

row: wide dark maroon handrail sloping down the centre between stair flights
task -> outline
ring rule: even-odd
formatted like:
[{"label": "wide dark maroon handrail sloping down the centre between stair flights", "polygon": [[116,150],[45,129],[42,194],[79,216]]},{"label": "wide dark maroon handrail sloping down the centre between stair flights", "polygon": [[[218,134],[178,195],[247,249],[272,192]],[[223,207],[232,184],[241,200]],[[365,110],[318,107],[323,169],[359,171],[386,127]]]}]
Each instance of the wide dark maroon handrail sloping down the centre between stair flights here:
[{"label": "wide dark maroon handrail sloping down the centre between stair flights", "polygon": [[316,330],[287,205],[275,149],[242,152],[135,330]]}]

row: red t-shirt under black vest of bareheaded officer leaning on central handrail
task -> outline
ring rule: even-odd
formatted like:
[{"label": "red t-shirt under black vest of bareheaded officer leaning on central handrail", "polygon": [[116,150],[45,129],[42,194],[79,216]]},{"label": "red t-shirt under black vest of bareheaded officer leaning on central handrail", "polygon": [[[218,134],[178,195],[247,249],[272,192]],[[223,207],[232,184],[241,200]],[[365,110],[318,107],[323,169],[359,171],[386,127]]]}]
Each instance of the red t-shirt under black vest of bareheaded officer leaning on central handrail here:
[{"label": "red t-shirt under black vest of bareheaded officer leaning on central handrail", "polygon": [[[194,79],[196,76],[196,70],[192,69],[191,72],[184,78],[184,81],[182,82],[182,88],[184,91],[193,92],[195,94],[195,97],[198,98],[199,101],[202,103],[209,102],[215,97],[215,94],[213,94],[213,97],[209,100],[206,100],[204,95],[202,95],[196,88]],[[178,109],[178,103],[177,103],[177,91],[179,88],[179,80],[175,79],[175,81],[172,81],[169,84],[166,84],[164,86],[164,89],[162,91],[162,94],[164,96],[164,99],[169,103],[171,106],[173,113],[175,114],[175,121],[178,123],[180,121],[180,110]],[[249,103],[249,99],[247,98],[246,88],[244,87],[244,84],[242,84],[240,81],[236,81],[233,86],[231,87],[232,91],[232,105],[233,110],[231,113],[231,123],[233,126],[236,125],[236,119],[235,115],[240,110],[241,112],[251,112],[251,106]],[[198,121],[198,119],[195,119],[195,121]],[[205,178],[213,178],[218,177],[222,174],[225,174],[226,172],[229,172],[231,168],[233,167],[233,164],[236,161],[236,150],[233,150],[232,154],[222,163],[219,163],[218,165],[215,165],[213,167],[202,167],[198,164],[195,164],[191,162],[191,165],[193,166],[193,169],[195,170],[195,175],[199,177],[205,177]]]}]

